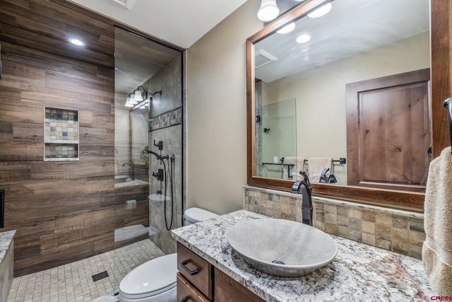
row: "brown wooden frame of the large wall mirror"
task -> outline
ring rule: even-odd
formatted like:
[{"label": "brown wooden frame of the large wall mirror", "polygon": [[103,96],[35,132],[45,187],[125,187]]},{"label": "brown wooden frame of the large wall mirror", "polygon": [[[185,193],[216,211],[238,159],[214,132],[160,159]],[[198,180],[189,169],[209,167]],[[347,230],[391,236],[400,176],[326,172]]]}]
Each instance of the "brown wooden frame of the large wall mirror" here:
[{"label": "brown wooden frame of the large wall mirror", "polygon": [[[290,191],[294,183],[292,180],[256,176],[254,44],[283,28],[286,23],[303,18],[326,1],[328,0],[309,0],[278,17],[246,40],[246,179],[248,185]],[[448,141],[448,112],[444,109],[443,102],[446,98],[452,96],[452,2],[449,0],[430,0],[430,9],[431,135],[432,158],[436,158],[441,150],[450,144]],[[414,211],[423,211],[424,209],[425,194],[420,192],[313,183],[312,193],[354,202],[377,204],[383,207],[396,207]]]}]

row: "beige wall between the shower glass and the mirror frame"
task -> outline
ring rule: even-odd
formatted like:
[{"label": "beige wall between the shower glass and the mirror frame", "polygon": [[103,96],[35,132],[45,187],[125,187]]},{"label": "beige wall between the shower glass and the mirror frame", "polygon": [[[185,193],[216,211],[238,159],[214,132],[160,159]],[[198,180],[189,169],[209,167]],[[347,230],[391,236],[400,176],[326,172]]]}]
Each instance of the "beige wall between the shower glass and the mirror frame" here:
[{"label": "beige wall between the shower glass and the mirror frame", "polygon": [[187,207],[242,209],[246,183],[245,40],[263,28],[248,0],[187,51]]}]

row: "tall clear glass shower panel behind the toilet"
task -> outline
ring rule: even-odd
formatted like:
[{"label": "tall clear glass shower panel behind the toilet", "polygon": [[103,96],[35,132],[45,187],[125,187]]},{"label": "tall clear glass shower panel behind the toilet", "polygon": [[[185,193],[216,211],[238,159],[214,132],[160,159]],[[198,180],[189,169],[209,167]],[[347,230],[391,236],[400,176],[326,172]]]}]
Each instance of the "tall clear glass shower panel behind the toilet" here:
[{"label": "tall clear glass shower panel behind the toilet", "polygon": [[182,226],[182,52],[115,29],[114,289],[175,252]]}]

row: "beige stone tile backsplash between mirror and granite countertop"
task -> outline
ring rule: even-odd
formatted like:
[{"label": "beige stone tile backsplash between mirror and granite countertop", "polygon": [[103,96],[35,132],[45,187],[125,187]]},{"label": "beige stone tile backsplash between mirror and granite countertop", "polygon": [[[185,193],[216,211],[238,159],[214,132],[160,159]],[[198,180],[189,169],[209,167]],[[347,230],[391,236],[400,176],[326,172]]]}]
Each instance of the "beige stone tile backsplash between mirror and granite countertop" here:
[{"label": "beige stone tile backsplash between mirror and granite countertop", "polygon": [[[421,259],[424,214],[315,196],[312,203],[321,231]],[[302,222],[302,195],[245,185],[244,209]]]}]

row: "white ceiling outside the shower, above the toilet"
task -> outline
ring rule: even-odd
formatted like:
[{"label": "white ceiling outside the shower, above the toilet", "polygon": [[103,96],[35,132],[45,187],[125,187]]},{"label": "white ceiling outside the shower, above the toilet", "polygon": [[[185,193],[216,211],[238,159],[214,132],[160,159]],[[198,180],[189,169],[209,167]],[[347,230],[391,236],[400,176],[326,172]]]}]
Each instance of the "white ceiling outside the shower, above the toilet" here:
[{"label": "white ceiling outside the shower, above the toilet", "polygon": [[[71,1],[144,33],[188,48],[246,0]],[[121,2],[131,6],[130,9]]]}]

